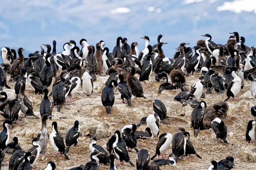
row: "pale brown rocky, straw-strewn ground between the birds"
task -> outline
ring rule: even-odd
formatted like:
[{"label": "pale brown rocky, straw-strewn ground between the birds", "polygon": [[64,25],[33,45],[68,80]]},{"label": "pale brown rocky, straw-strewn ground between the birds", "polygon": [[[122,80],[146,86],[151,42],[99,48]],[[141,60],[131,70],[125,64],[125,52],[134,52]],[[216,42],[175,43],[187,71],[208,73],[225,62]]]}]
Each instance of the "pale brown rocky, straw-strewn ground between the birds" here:
[{"label": "pale brown rocky, straw-strewn ground between the birds", "polygon": [[[187,83],[192,85],[194,82],[198,81],[199,74],[190,75],[187,78]],[[137,124],[140,122],[142,117],[148,116],[153,112],[152,100],[160,99],[167,108],[167,116],[169,116],[168,121],[170,125],[165,125],[160,123],[160,134],[162,133],[172,133],[174,136],[177,131],[177,127],[184,127],[191,136],[190,140],[195,147],[195,150],[203,159],[198,159],[196,156],[184,157],[183,160],[177,162],[176,167],[166,166],[161,167],[162,170],[206,170],[210,166],[210,161],[225,159],[226,156],[233,156],[235,158],[234,169],[237,170],[247,170],[254,169],[255,164],[250,160],[256,161],[256,153],[253,153],[251,149],[252,144],[247,144],[245,139],[245,132],[247,127],[247,122],[253,119],[250,113],[250,107],[254,106],[255,99],[250,94],[249,82],[245,82],[244,89],[239,93],[239,102],[229,100],[229,111],[227,114],[228,120],[224,120],[227,125],[227,140],[229,145],[223,142],[219,143],[215,141],[215,134],[212,129],[200,131],[198,137],[193,136],[193,130],[190,128],[191,125],[191,112],[192,108],[190,106],[182,107],[180,102],[174,100],[175,95],[180,92],[178,90],[163,91],[162,94],[157,94],[158,87],[161,83],[155,82],[154,74],[150,77],[150,82],[146,85],[142,83],[144,94],[147,99],[137,98],[132,100],[132,107],[128,107],[126,104],[119,104],[122,100],[116,91],[116,100],[111,109],[111,114],[107,115],[105,113],[105,108],[102,106],[101,102],[101,90],[104,87],[104,82],[108,77],[97,77],[97,81],[94,82],[94,89],[92,96],[85,96],[81,88],[79,88],[78,93],[81,96],[74,95],[73,99],[75,102],[69,102],[67,99],[67,104],[61,108],[61,113],[57,112],[57,108],[53,109],[53,119],[48,120],[47,128],[49,133],[52,132],[51,124],[53,121],[58,123],[58,130],[61,136],[65,139],[67,131],[73,127],[75,120],[79,120],[81,125],[81,135],[77,147],[71,147],[68,156],[70,160],[65,160],[63,155],[56,155],[50,142],[48,143],[47,152],[45,155],[40,155],[38,161],[32,167],[34,170],[44,170],[47,166],[48,161],[54,161],[57,170],[68,170],[71,167],[79,166],[80,164],[86,164],[90,160],[90,139],[86,137],[88,133],[92,133],[97,138],[98,144],[106,148],[106,142],[115,130],[121,130],[123,126],[129,124]],[[9,77],[8,77],[9,80]],[[8,81],[7,80],[7,81]],[[52,82],[53,83],[53,82]],[[14,84],[8,82],[8,84],[14,88]],[[51,89],[52,87],[50,87]],[[15,98],[14,90],[4,88],[4,91],[8,94],[10,99]],[[50,90],[51,91],[51,90]],[[33,104],[34,113],[40,116],[39,105],[43,95],[36,95],[32,91],[29,83],[27,85],[25,94],[29,97]],[[50,97],[52,100],[52,96]],[[213,105],[214,103],[223,101],[226,99],[226,94],[218,95],[215,91],[211,91],[210,95],[206,95],[204,101],[207,105]],[[221,118],[222,119],[222,118]],[[0,117],[0,124],[2,124],[4,118]],[[10,130],[10,142],[12,138],[17,136],[19,139],[19,144],[23,150],[27,151],[32,147],[32,139],[37,135],[41,128],[41,120],[35,119],[34,117],[29,117],[28,119],[23,119],[14,125],[13,129]],[[146,125],[138,127],[137,130],[145,130]],[[0,127],[2,130],[3,127]],[[103,137],[103,138],[102,138]],[[155,153],[155,147],[158,139],[147,139],[138,140],[137,147],[140,149],[149,150],[151,156]],[[245,150],[245,151],[244,151]],[[166,153],[166,156],[172,152],[172,147]],[[9,164],[10,154],[6,155],[5,162],[2,164],[2,169],[7,170]],[[131,161],[136,164],[137,153],[135,150],[129,152]],[[247,160],[247,161],[245,161]],[[136,168],[131,167],[130,164],[124,163],[119,165],[119,161],[115,161],[117,169],[120,170],[135,170]],[[100,170],[108,170],[109,166],[101,166]]]}]

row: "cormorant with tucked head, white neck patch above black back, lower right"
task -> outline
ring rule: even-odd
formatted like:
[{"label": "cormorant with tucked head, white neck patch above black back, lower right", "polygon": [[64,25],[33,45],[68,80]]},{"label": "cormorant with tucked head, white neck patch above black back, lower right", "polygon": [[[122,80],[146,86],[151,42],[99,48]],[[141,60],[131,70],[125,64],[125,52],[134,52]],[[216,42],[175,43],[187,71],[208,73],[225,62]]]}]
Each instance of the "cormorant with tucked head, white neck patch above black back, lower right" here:
[{"label": "cormorant with tucked head, white neck patch above black back, lower right", "polygon": [[217,117],[212,121],[212,130],[215,133],[217,139],[222,139],[225,144],[228,144],[226,139],[227,127],[220,118]]}]

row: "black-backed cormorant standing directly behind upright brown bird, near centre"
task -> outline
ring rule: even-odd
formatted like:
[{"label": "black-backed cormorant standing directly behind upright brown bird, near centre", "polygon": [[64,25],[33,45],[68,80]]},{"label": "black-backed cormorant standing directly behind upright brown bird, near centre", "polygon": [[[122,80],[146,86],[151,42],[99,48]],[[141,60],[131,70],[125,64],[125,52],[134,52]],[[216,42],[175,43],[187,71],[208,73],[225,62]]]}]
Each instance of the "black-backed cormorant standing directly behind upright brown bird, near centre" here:
[{"label": "black-backed cormorant standing directly behind upright brown bird, near centre", "polygon": [[140,82],[145,82],[146,80],[149,79],[150,75],[152,74],[152,61],[151,61],[151,56],[147,57],[146,62],[142,65],[141,69],[140,69]]}]

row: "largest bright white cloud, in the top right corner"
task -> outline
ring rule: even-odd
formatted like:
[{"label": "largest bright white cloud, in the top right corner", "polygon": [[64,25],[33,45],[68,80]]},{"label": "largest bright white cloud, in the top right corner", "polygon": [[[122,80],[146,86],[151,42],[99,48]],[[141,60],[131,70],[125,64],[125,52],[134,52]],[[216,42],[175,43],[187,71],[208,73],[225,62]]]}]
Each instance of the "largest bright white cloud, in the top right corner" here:
[{"label": "largest bright white cloud, in the top right corner", "polygon": [[256,14],[256,0],[234,0],[233,2],[224,2],[218,6],[217,11],[232,11],[236,14],[242,11],[253,12]]}]

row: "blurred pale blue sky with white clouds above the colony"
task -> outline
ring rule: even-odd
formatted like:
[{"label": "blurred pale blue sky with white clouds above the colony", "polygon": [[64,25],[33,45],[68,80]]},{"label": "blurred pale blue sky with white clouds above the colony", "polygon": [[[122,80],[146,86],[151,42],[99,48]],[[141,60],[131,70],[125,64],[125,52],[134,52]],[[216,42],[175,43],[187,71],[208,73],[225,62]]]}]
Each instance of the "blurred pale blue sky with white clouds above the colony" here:
[{"label": "blurred pale blue sky with white clouds above the colony", "polygon": [[[2,2],[3,1],[3,2]],[[2,0],[0,5],[0,49],[23,47],[25,57],[40,45],[85,38],[89,45],[105,41],[112,52],[116,38],[138,42],[139,51],[147,35],[150,44],[164,35],[166,57],[172,58],[181,43],[191,46],[211,34],[215,43],[226,44],[237,31],[245,44],[256,42],[256,0]]]}]

